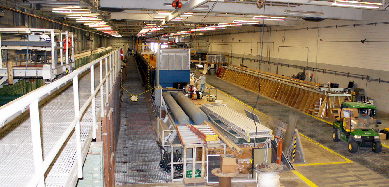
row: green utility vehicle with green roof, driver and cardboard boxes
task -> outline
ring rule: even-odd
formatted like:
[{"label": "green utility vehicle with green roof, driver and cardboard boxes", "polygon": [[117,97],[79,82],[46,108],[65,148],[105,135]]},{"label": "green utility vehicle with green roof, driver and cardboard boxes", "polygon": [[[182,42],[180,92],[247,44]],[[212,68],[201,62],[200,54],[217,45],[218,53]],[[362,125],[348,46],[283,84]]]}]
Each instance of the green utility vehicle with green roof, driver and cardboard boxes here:
[{"label": "green utility vehicle with green roof, driver and cardboard boxes", "polygon": [[[377,108],[367,103],[344,102],[335,119],[332,139],[348,143],[349,152],[356,153],[358,147],[371,147],[380,152],[382,145],[378,135]],[[363,115],[364,114],[364,115]]]}]

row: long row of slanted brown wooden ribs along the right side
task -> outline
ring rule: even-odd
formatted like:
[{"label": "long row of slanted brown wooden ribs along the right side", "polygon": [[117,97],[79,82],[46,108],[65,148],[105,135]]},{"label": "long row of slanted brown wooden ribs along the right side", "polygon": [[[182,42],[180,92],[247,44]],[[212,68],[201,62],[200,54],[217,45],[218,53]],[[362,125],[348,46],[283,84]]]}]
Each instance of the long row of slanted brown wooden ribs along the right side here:
[{"label": "long row of slanted brown wooden ribs along the right side", "polygon": [[[333,97],[329,99],[329,97],[324,94],[308,91],[300,87],[290,86],[270,79],[259,78],[258,80],[258,76],[224,67],[222,68],[219,77],[223,80],[226,80],[228,82],[231,82],[233,84],[236,84],[238,86],[244,87],[248,90],[257,93],[260,83],[261,90],[259,94],[261,94],[262,96],[270,98],[274,101],[278,101],[290,107],[296,108],[298,110],[301,110],[302,112],[307,112],[308,114],[316,115],[319,117],[321,117],[321,114],[323,114],[324,117],[327,117],[328,115],[332,114],[332,102],[331,105],[326,104],[328,105],[328,110],[327,107],[322,104],[320,104],[319,107],[320,101],[328,101],[329,103],[329,100],[333,100]],[[339,101],[343,100],[344,97],[342,98],[342,100],[340,100],[339,97],[335,97],[335,108],[339,108],[336,106],[340,106]]]}]

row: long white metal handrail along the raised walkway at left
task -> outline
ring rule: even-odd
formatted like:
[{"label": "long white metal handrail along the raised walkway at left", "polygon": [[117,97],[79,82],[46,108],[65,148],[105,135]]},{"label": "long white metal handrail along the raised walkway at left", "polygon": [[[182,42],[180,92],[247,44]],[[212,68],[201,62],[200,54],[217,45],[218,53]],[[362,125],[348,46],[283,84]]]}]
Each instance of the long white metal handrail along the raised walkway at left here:
[{"label": "long white metal handrail along the raised walkway at left", "polygon": [[[109,58],[109,66],[108,66]],[[105,59],[105,76],[103,77],[103,60]],[[95,78],[94,78],[94,68],[95,65],[100,66],[100,84],[95,88]],[[48,84],[46,86],[40,87],[20,98],[0,107],[0,128],[5,126],[7,119],[11,118],[14,115],[20,114],[20,112],[26,111],[27,107],[30,108],[30,121],[31,121],[31,132],[32,132],[32,147],[34,155],[34,166],[35,174],[32,177],[32,180],[28,183],[27,186],[44,186],[44,173],[47,171],[54,158],[60,151],[61,147],[66,142],[68,136],[72,133],[75,128],[76,136],[76,150],[77,150],[77,161],[75,166],[77,166],[77,176],[82,178],[82,156],[81,156],[81,131],[80,131],[80,119],[84,112],[87,110],[88,105],[91,104],[92,108],[92,137],[96,138],[96,117],[95,117],[95,96],[98,92],[101,94],[101,117],[104,116],[104,94],[105,100],[108,100],[109,93],[112,92],[112,83],[115,80],[115,77],[118,76],[118,72],[121,66],[120,59],[120,48],[116,49],[109,54],[102,56],[94,61],[74,70],[72,73]],[[109,71],[108,71],[109,68]],[[79,89],[78,89],[78,76],[83,72],[90,70],[91,71],[91,96],[88,100],[79,108]],[[110,89],[108,90],[108,82],[110,81]],[[39,122],[39,101],[51,94],[53,91],[56,91],[61,86],[66,85],[68,82],[73,81],[73,93],[74,93],[74,114],[75,117],[73,121],[68,125],[67,129],[60,136],[58,141],[53,146],[53,149],[45,155],[43,160],[42,155],[42,142],[41,142],[41,133],[40,133],[40,122]],[[103,91],[103,85],[105,83],[105,93]]]}]

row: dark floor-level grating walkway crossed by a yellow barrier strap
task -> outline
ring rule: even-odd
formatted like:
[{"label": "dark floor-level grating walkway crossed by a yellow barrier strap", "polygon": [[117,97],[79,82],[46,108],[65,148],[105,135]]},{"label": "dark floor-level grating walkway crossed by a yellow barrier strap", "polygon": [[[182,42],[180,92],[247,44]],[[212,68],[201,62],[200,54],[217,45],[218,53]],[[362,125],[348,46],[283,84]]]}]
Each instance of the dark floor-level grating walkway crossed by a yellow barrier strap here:
[{"label": "dark floor-level grating walkway crossed by a yellow barrier strap", "polygon": [[[132,94],[142,93],[135,60],[127,58],[127,81],[123,87]],[[144,95],[138,102],[130,101],[123,92],[120,131],[115,157],[115,184],[149,184],[168,182],[168,174],[159,167],[160,150],[151,126]]]}]

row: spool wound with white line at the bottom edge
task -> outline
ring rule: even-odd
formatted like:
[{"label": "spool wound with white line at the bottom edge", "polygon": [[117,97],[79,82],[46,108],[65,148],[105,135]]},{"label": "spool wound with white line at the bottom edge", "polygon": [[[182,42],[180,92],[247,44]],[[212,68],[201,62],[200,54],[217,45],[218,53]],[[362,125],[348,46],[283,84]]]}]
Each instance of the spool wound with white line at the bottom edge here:
[{"label": "spool wound with white line at the bottom edge", "polygon": [[256,164],[254,170],[256,174],[257,187],[279,187],[280,172],[284,168],[275,163]]}]

